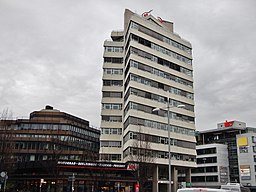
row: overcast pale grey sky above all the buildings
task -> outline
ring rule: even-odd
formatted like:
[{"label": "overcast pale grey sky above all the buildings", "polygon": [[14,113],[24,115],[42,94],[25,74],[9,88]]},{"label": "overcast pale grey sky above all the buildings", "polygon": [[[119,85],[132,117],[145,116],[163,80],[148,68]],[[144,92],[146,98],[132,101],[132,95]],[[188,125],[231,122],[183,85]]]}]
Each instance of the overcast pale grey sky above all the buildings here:
[{"label": "overcast pale grey sky above all the buildings", "polygon": [[103,42],[125,8],[153,9],[192,43],[198,130],[256,127],[255,0],[0,0],[0,111],[48,104],[99,127]]}]

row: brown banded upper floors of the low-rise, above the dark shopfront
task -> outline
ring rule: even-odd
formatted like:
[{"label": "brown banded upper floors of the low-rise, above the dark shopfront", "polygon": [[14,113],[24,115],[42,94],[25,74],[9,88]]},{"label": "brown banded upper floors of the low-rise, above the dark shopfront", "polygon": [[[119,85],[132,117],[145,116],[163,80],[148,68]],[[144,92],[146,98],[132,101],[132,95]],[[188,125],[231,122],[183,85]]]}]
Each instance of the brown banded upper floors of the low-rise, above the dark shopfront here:
[{"label": "brown banded upper floors of the low-rise, above the dark shopfront", "polygon": [[98,160],[99,137],[100,130],[89,121],[51,106],[32,112],[29,119],[0,122],[3,159],[15,162]]}]

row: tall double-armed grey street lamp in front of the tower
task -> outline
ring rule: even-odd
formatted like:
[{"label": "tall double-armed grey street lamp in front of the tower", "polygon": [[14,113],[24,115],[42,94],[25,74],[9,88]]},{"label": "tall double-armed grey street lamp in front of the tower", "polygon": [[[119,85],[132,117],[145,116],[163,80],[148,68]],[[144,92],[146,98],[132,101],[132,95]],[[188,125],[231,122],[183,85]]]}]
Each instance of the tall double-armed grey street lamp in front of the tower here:
[{"label": "tall double-armed grey street lamp in front of the tower", "polygon": [[[170,106],[170,99],[168,98],[168,101],[167,101],[167,119],[168,119],[168,154],[169,154],[169,157],[168,157],[168,176],[169,176],[169,186],[168,186],[168,192],[171,192],[172,191],[172,178],[171,178],[171,133],[170,133],[170,129],[171,129],[171,126],[170,126],[170,108],[184,108],[185,105],[177,105],[177,106]],[[161,110],[161,108],[155,108],[153,109],[153,111],[159,111]]]}]

